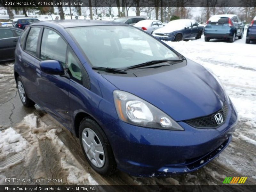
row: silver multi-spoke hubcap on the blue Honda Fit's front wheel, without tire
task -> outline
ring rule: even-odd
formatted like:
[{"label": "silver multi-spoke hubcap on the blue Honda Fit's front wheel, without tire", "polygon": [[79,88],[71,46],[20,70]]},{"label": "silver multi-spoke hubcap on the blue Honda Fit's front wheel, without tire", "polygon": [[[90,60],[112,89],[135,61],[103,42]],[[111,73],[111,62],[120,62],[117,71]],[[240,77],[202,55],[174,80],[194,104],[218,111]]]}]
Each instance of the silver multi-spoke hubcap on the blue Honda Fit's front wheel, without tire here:
[{"label": "silver multi-spoke hubcap on the blue Honda Fit's front wheel, without tire", "polygon": [[85,128],[82,133],[84,151],[91,163],[98,168],[104,166],[105,153],[97,134],[90,128]]}]

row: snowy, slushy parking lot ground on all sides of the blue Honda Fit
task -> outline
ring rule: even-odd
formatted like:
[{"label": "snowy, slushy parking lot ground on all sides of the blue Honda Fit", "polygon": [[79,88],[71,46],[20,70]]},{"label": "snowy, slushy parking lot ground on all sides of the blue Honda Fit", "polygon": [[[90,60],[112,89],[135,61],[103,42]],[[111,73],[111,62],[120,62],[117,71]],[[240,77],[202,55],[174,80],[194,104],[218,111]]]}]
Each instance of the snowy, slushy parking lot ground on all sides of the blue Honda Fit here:
[{"label": "snowy, slushy parking lot ground on all sides of the blue Honda Fit", "polygon": [[239,121],[233,140],[211,163],[170,178],[135,178],[120,171],[100,176],[89,167],[70,132],[40,107],[22,106],[10,62],[0,65],[0,184],[6,184],[5,177],[19,176],[61,179],[40,183],[46,185],[219,185],[226,176],[244,176],[246,184],[256,185],[256,45],[245,44],[244,38],[235,43],[203,38],[167,44],[219,76],[236,106]]}]

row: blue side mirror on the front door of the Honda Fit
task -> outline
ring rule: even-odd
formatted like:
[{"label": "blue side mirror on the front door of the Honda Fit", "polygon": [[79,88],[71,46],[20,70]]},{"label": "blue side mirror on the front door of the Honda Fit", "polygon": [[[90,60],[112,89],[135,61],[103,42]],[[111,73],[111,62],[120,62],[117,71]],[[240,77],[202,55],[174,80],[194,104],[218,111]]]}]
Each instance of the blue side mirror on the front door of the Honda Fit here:
[{"label": "blue side mirror on the front door of the Honda Fit", "polygon": [[44,73],[51,75],[64,75],[64,69],[59,61],[45,60],[40,62],[40,68]]}]

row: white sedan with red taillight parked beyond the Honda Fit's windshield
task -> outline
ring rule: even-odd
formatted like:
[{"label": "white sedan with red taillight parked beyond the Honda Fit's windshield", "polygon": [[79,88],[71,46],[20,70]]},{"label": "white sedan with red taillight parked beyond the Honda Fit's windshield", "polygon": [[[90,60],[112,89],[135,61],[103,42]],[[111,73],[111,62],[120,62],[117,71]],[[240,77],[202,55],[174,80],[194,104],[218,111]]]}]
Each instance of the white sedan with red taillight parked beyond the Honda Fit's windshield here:
[{"label": "white sedan with red taillight parked beyond the Honda Fit's windshield", "polygon": [[159,20],[141,20],[133,26],[151,34],[154,30],[164,27],[164,24]]}]

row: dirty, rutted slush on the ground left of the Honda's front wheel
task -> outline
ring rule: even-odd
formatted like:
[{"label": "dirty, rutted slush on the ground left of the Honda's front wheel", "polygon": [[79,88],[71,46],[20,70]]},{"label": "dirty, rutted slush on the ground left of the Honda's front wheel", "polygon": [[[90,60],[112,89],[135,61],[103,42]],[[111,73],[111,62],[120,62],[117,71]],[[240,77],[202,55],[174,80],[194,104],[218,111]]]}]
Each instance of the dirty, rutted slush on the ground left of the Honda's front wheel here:
[{"label": "dirty, rutted slush on the ground left of the Honda's front wheel", "polygon": [[47,171],[53,169],[53,172],[58,172],[58,178],[52,179],[62,179],[66,184],[98,185],[59,139],[57,134],[60,132],[60,127],[47,126],[35,114],[25,116],[16,128],[0,131],[0,174],[11,176],[12,171],[7,168],[31,169],[32,163],[35,170],[33,175],[25,175],[28,178],[49,179],[51,173]]}]

